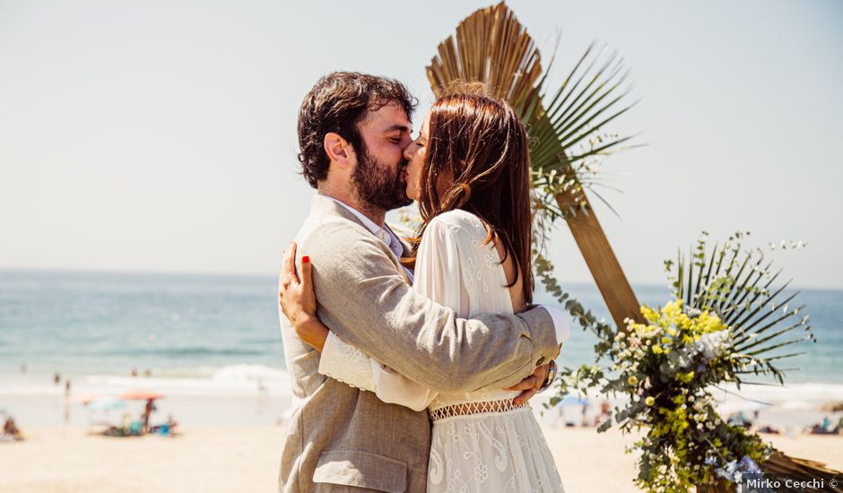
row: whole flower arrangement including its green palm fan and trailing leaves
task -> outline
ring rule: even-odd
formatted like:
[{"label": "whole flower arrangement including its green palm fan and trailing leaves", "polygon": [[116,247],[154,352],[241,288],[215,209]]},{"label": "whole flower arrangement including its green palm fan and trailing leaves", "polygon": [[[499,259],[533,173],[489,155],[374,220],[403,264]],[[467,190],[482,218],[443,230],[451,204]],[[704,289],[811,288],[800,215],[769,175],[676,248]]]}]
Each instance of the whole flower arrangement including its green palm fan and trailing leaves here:
[{"label": "whole flower arrangement including its green palm fan and trailing leaves", "polygon": [[[674,298],[664,307],[642,306],[644,322],[628,319],[625,331],[613,332],[576,302],[569,304],[597,335],[598,363],[608,364],[566,368],[551,405],[591,387],[619,396],[612,419],[598,430],[646,430],[629,450],[640,454],[636,484],[642,489],[683,492],[738,482],[744,473],[760,472],[772,453],[760,437],[717,414],[712,389],[752,384],[747,375],[782,382],[777,362],[795,353],[775,351],[813,340],[813,334],[808,317],[799,318],[802,307],[787,306],[798,293],[779,303],[784,287],[769,289],[778,274],[763,265],[763,252],[740,246],[746,234],[736,233],[707,255],[703,233],[688,261],[665,263],[668,272],[676,267],[670,276]],[[783,339],[797,328],[808,335]]]}]

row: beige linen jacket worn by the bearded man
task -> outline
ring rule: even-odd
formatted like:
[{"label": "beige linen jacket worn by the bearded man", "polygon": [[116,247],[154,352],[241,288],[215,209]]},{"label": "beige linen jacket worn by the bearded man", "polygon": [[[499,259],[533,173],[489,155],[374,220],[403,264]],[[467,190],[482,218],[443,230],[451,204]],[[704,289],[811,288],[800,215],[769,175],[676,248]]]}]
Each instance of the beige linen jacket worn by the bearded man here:
[{"label": "beige linen jacket worn by the bearded man", "polygon": [[[514,385],[556,354],[546,310],[457,318],[415,293],[387,245],[330,198],[313,198],[296,242],[299,257],[309,255],[313,264],[319,319],[345,342],[430,389]],[[279,490],[424,493],[427,412],[381,402],[320,375],[319,352],[283,315],[281,332],[298,407],[284,439]]]}]

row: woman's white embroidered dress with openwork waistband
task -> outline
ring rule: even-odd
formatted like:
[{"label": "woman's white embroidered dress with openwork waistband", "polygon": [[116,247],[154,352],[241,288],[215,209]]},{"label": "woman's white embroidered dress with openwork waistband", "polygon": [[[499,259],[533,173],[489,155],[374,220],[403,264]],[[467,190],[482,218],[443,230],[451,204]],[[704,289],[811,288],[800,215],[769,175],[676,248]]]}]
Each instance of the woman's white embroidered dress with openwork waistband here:
[{"label": "woman's white embroidered dress with openwork waistband", "polygon": [[[446,212],[430,221],[416,258],[413,289],[462,317],[512,313],[506,274],[474,214]],[[319,372],[385,402],[430,411],[429,492],[561,492],[562,483],[533,411],[513,407],[517,392],[438,394],[395,373],[334,333]]]}]

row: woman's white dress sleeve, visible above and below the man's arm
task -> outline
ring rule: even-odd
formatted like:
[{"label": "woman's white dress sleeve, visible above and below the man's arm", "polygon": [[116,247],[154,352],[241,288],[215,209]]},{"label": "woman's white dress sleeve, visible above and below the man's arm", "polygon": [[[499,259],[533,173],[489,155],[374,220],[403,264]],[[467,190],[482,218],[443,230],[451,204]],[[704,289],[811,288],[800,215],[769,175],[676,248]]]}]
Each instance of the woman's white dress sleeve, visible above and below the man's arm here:
[{"label": "woman's white dress sleeve, visible above and below the man's arm", "polygon": [[[460,288],[459,251],[448,225],[430,221],[422,237],[415,265],[413,290],[457,312],[464,300]],[[361,350],[329,333],[319,363],[319,373],[347,385],[369,390],[383,402],[422,411],[438,392],[394,369],[381,365]]]}]

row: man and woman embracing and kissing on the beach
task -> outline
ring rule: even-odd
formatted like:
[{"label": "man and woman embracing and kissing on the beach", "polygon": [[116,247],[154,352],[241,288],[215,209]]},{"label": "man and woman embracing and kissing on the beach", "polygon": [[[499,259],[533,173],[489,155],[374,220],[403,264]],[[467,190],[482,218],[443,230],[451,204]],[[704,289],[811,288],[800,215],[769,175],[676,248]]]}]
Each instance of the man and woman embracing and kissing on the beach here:
[{"label": "man and woman embracing and kissing on the beach", "polygon": [[[279,280],[296,408],[282,492],[560,492],[527,400],[569,324],[534,306],[530,160],[500,99],[336,72],[299,111],[317,189]],[[421,227],[387,211],[414,201]]]}]

